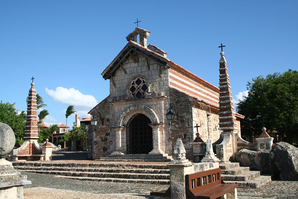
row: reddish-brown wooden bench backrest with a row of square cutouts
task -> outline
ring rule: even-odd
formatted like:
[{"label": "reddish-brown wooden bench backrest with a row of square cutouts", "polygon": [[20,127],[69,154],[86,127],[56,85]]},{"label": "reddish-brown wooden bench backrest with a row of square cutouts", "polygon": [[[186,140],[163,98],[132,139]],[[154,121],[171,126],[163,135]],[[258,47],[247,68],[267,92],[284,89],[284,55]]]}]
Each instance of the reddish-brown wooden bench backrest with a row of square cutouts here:
[{"label": "reddish-brown wooden bench backrest with a row of square cutouts", "polygon": [[220,168],[185,175],[185,186],[193,193],[204,191],[219,184],[221,184]]}]

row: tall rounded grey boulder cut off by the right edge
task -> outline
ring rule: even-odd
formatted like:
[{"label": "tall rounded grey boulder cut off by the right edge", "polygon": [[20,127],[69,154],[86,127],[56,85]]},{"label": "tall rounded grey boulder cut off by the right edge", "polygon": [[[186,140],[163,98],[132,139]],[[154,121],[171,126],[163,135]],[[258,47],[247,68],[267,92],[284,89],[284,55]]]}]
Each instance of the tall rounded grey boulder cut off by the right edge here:
[{"label": "tall rounded grey boulder cut off by the right edge", "polygon": [[280,179],[298,181],[298,148],[279,142],[272,145],[270,157],[280,171]]}]

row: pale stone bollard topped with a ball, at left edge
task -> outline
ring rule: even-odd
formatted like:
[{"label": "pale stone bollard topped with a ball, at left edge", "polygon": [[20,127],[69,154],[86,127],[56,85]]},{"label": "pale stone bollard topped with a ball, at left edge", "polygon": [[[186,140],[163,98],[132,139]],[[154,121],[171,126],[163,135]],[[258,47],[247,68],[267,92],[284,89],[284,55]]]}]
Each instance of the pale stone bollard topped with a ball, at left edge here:
[{"label": "pale stone bollard topped with a ball, at left edge", "polygon": [[[13,129],[0,122],[0,157],[7,155],[15,145]],[[11,162],[0,159],[0,198],[24,199],[23,186],[31,184],[27,181],[27,175],[13,169]]]}]

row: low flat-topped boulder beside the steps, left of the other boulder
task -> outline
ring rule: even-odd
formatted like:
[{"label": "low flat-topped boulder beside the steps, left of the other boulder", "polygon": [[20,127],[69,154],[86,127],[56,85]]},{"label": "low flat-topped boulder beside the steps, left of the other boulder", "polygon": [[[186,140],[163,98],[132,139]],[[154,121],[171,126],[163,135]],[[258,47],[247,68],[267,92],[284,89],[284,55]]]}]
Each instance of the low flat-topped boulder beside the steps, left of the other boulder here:
[{"label": "low flat-topped boulder beside the steps, left of the other boulder", "polygon": [[271,173],[270,153],[241,149],[236,159],[240,166],[248,166],[252,170],[261,171],[262,174]]}]

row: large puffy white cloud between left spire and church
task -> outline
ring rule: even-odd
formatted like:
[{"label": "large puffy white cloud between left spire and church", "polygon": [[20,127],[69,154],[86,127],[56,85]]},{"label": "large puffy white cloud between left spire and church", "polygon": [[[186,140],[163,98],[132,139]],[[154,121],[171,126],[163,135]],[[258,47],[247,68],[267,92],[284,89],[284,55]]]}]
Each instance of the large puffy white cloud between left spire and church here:
[{"label": "large puffy white cloud between left spire and church", "polygon": [[92,95],[84,95],[74,88],[57,87],[55,91],[46,88],[46,94],[55,102],[73,105],[78,110],[89,111],[97,105],[97,100]]}]

